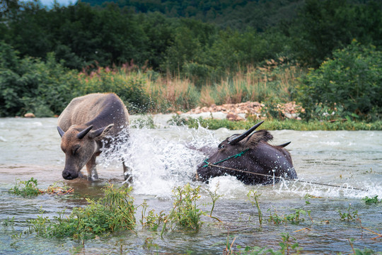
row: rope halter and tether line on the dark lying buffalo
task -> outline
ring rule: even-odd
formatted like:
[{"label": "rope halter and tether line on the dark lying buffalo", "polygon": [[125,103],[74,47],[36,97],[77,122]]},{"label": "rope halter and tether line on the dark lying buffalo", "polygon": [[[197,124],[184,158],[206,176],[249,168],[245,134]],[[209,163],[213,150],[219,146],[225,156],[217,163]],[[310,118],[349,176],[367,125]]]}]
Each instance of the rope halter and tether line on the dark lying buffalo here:
[{"label": "rope halter and tether line on the dark lying buffalo", "polygon": [[[259,174],[259,173],[253,173],[253,172],[250,172],[250,171],[245,171],[245,170],[240,170],[240,169],[233,169],[231,167],[226,167],[226,166],[218,166],[216,164],[219,164],[221,162],[225,162],[227,159],[231,159],[231,158],[237,158],[237,157],[241,157],[245,152],[247,152],[248,149],[245,149],[243,152],[240,152],[236,155],[233,155],[231,157],[228,157],[226,159],[222,159],[221,161],[219,162],[216,162],[214,164],[212,163],[209,163],[207,162],[208,159],[205,159],[204,160],[204,163],[206,163],[204,166],[202,167],[207,167],[207,166],[214,166],[214,167],[219,167],[221,169],[228,169],[228,170],[232,170],[232,171],[239,171],[239,172],[242,172],[242,173],[245,173],[245,174],[254,174],[254,175],[258,175],[258,176],[265,176],[265,177],[271,177],[271,178],[277,178],[277,179],[280,179],[280,180],[287,180],[287,181],[298,181],[298,182],[301,182],[301,183],[309,183],[309,184],[316,184],[316,185],[321,185],[321,186],[329,186],[329,187],[334,187],[334,188],[345,188],[345,187],[342,187],[342,186],[338,186],[338,185],[332,185],[332,184],[327,184],[327,183],[316,183],[316,182],[313,182],[313,181],[302,181],[302,180],[298,180],[298,179],[291,179],[291,178],[286,178],[286,177],[280,177],[280,176],[271,176],[270,174]],[[348,189],[349,187],[346,187],[346,189]],[[357,191],[369,191],[367,190],[366,188],[349,188],[349,189],[353,189],[353,190],[357,190]]]}]

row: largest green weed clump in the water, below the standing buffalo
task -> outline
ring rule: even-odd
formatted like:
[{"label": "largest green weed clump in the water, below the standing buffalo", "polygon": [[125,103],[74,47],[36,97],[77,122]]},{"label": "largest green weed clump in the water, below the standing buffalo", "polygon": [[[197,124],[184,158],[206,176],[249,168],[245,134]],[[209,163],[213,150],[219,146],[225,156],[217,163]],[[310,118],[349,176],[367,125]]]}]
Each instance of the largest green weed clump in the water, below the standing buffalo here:
[{"label": "largest green weed clump in the water, below the standing buffalo", "polygon": [[71,237],[73,239],[91,239],[123,229],[135,227],[134,200],[129,193],[131,188],[122,186],[104,188],[105,197],[95,201],[87,199],[88,205],[74,208],[65,217],[65,210],[59,212],[54,220],[42,215],[30,220],[30,232],[42,237]]}]

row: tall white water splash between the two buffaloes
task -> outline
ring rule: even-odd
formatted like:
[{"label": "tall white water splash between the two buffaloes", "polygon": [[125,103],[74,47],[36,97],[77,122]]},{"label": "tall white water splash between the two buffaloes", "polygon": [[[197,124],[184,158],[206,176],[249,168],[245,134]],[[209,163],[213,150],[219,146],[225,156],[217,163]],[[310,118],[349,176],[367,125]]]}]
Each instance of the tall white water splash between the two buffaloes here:
[{"label": "tall white water splash between the two buffaloes", "polygon": [[[176,132],[174,132],[174,129]],[[128,137],[126,139],[126,137]],[[173,188],[191,183],[204,154],[199,147],[216,147],[214,133],[199,128],[162,130],[132,129],[124,132],[114,146],[105,149],[103,166],[125,159],[134,182],[134,193],[168,198]]]}]

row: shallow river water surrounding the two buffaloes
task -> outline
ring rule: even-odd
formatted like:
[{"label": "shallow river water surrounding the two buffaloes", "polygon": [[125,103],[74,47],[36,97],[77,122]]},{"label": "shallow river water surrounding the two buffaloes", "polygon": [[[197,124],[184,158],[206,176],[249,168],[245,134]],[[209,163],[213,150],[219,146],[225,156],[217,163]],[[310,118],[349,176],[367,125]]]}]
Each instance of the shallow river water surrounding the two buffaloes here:
[{"label": "shallow river water surrounding the two buffaloes", "polygon": [[[137,116],[132,116],[132,120]],[[130,130],[129,145],[120,145],[119,154],[99,157],[99,181],[85,179],[64,181],[74,188],[74,196],[42,195],[23,198],[8,193],[16,179],[37,179],[39,188],[62,180],[64,153],[56,129],[56,118],[0,119],[0,254],[223,254],[226,243],[240,246],[261,246],[279,249],[281,233],[288,232],[291,241],[298,242],[302,254],[352,253],[355,249],[382,251],[382,238],[368,231],[382,232],[382,203],[366,205],[362,198],[382,198],[382,132],[381,131],[272,131],[272,144],[291,141],[291,152],[299,180],[282,181],[268,186],[245,186],[231,176],[212,179],[209,184],[192,181],[196,165],[205,155],[189,149],[190,145],[217,146],[235,133],[221,128],[206,130],[166,125],[168,115],[155,115],[156,129]],[[124,156],[133,170],[132,196],[135,204],[147,200],[149,210],[170,212],[172,190],[190,183],[201,186],[199,206],[209,212],[208,191],[221,196],[213,215],[199,232],[158,232],[142,229],[137,212],[136,233],[122,232],[81,242],[71,239],[43,239],[35,234],[23,234],[28,220],[41,210],[45,216],[57,216],[67,208],[83,205],[83,198],[97,198],[101,188],[123,181]],[[86,170],[84,172],[86,174]],[[314,182],[314,183],[309,183]],[[325,183],[332,186],[322,186]],[[338,187],[333,187],[338,186]],[[263,222],[257,218],[257,208],[247,200],[247,193],[256,191]],[[307,196],[308,195],[308,196]],[[342,221],[340,213],[357,210],[359,221]],[[301,215],[299,224],[290,222],[274,225],[269,215],[289,215],[296,209],[311,211]],[[12,225],[5,225],[14,217]],[[361,228],[367,228],[362,229]],[[121,248],[122,247],[122,248]],[[237,248],[236,248],[237,251]]]}]

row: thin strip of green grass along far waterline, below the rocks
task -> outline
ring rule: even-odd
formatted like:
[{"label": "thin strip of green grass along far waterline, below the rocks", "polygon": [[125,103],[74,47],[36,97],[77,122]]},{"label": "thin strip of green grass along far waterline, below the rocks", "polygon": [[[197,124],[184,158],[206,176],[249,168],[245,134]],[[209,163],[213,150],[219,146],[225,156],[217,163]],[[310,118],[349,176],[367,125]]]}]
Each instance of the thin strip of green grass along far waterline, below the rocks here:
[{"label": "thin strip of green grass along far waterline, below the rocks", "polygon": [[[244,120],[233,122],[231,120],[219,119],[202,119],[202,118],[174,118],[173,123],[177,125],[188,125],[189,128],[198,128],[199,125],[203,128],[216,130],[218,128],[228,128],[229,130],[248,130],[260,120]],[[374,123],[362,123],[356,121],[336,121],[330,123],[328,121],[312,120],[309,122],[303,120],[265,120],[261,125],[262,129],[266,130],[382,130],[382,121]]]}]

